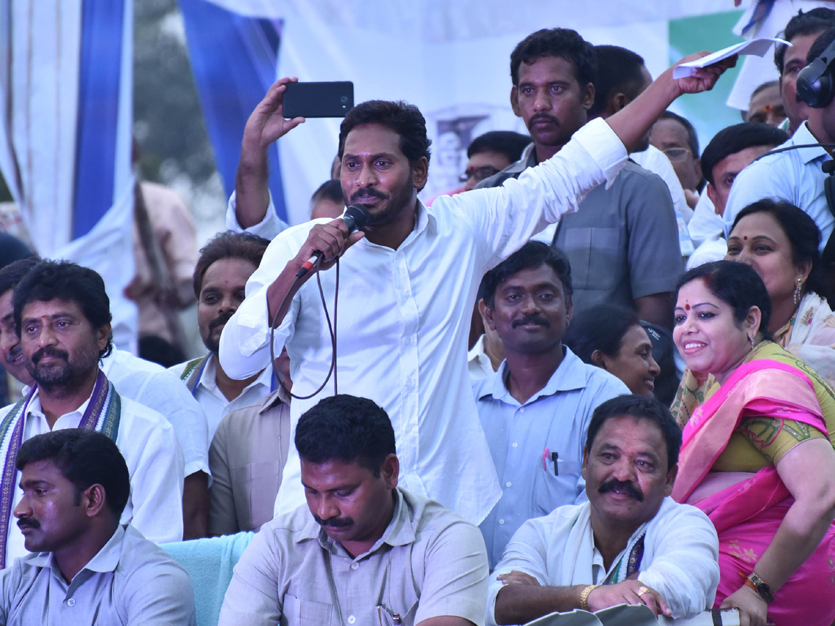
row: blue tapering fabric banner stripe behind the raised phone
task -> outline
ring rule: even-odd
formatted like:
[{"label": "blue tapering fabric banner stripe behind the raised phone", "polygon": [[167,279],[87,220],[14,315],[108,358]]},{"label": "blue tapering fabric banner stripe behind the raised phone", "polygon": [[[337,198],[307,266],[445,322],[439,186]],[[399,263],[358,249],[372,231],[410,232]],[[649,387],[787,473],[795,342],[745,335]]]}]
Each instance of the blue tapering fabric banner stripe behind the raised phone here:
[{"label": "blue tapering fabric banner stripe behind the raised phone", "polygon": [[[281,20],[248,18],[209,0],[180,0],[180,9],[206,130],[228,196],[235,189],[246,120],[276,80]],[[275,144],[268,158],[276,213],[286,220]]]}]

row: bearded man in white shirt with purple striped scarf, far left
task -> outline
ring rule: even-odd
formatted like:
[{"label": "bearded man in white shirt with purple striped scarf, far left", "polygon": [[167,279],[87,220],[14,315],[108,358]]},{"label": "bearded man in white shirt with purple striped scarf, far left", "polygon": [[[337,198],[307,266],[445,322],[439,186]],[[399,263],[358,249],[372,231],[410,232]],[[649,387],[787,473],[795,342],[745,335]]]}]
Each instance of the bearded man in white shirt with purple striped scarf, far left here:
[{"label": "bearded man in white shirt with purple striped scarf, far left", "polygon": [[[122,521],[154,543],[183,537],[183,452],[174,428],[158,412],[122,397],[99,359],[112,346],[109,299],[94,270],[42,260],[13,292],[14,324],[23,362],[37,383],[0,411],[0,558],[25,553],[23,534],[8,524],[23,497],[14,457],[21,442],[63,428],[104,432],[116,442],[130,472]],[[7,524],[3,527],[2,524]]]}]

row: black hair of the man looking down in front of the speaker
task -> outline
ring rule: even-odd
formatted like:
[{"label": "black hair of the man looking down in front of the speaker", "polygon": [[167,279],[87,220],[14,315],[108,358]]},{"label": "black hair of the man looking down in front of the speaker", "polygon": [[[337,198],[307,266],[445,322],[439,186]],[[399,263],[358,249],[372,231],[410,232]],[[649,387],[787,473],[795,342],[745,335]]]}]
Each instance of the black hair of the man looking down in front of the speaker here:
[{"label": "black hair of the man looking down in front of the speaker", "polygon": [[339,459],[358,462],[380,476],[389,454],[396,454],[392,421],[367,398],[339,394],[305,411],[296,425],[296,449],[306,462]]}]

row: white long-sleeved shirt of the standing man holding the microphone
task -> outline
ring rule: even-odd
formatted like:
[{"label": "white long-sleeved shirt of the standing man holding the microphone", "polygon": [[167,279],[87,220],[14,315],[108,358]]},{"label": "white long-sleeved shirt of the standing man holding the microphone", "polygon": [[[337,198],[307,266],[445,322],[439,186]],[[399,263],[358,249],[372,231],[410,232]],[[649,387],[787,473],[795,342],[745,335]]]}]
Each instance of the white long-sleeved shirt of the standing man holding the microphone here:
[{"label": "white long-sleeved shirt of the standing man holding the microphone", "polygon": [[[608,124],[595,120],[554,158],[519,179],[442,196],[431,209],[418,203],[414,230],[397,250],[363,239],[342,257],[339,391],[371,398],[386,409],[397,439],[400,484],[407,491],[438,500],[471,523],[480,523],[498,500],[498,479],[467,372],[478,284],[486,270],[519,250],[530,235],[576,210],[590,189],[611,183],[625,161],[620,139]],[[246,300],[220,338],[220,361],[230,376],[242,379],[269,365],[266,290],[297,254],[312,225],[278,235],[247,282]],[[333,310],[336,270],[320,277]],[[331,365],[315,279],[301,286],[276,329],[276,354],[285,345],[293,391],[308,395]],[[299,416],[333,392],[331,378],[316,397],[292,402],[291,439]],[[305,502],[300,473],[292,447],[276,513]]]}]

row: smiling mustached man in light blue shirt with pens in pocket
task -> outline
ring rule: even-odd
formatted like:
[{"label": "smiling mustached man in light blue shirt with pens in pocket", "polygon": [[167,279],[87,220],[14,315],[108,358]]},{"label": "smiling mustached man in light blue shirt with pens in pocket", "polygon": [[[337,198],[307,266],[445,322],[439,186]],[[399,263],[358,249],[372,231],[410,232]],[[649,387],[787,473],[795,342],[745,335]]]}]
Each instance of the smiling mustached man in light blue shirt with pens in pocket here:
[{"label": "smiling mustached man in light blue shirt with pens in pocket", "polygon": [[502,487],[479,527],[492,568],[524,522],[573,504],[584,492],[580,471],[591,414],[629,389],[562,345],[572,311],[564,253],[530,241],[483,284],[485,317],[505,355],[493,376],[473,384]]}]

